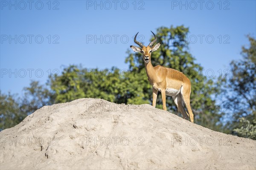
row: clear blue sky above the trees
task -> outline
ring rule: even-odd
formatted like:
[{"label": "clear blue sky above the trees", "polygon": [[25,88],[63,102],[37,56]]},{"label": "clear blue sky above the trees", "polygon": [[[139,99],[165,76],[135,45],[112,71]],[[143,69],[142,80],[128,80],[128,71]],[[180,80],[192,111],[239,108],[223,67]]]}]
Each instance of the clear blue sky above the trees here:
[{"label": "clear blue sky above the trees", "polygon": [[160,26],[189,27],[190,53],[209,76],[224,73],[231,60],[241,58],[246,35],[256,36],[255,0],[1,0],[0,5],[2,93],[22,94],[30,80],[45,83],[50,72],[71,64],[127,69],[134,34],[139,31],[148,44],[150,31]]}]

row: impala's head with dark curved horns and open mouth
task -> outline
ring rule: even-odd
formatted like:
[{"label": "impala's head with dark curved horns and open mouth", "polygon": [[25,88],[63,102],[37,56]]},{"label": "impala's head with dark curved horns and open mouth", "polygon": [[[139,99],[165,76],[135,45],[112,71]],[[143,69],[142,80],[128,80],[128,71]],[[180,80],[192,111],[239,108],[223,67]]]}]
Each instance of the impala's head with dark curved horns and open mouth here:
[{"label": "impala's head with dark curved horns and open mouth", "polygon": [[[152,32],[152,31],[151,31]],[[139,33],[139,32],[138,32]],[[137,33],[137,34],[138,34]],[[153,33],[153,32],[152,32]],[[142,54],[143,60],[145,63],[148,63],[151,60],[151,53],[153,51],[156,51],[160,47],[160,42],[153,46],[153,44],[157,41],[156,35],[154,35],[154,40],[151,41],[148,46],[144,46],[141,42],[138,42],[136,40],[137,34],[134,37],[134,42],[138,45],[140,45],[141,48],[131,45],[131,49],[135,52],[140,52]]]}]

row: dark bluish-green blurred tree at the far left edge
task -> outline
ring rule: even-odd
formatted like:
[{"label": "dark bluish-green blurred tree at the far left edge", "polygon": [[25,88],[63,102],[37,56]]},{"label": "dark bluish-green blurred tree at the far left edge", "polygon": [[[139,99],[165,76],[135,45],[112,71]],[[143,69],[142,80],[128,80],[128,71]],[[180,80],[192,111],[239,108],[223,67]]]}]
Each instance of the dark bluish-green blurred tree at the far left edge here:
[{"label": "dark bluish-green blurred tree at the far left edge", "polygon": [[0,131],[19,124],[26,116],[44,105],[53,104],[52,94],[44,85],[32,81],[23,88],[24,95],[0,93]]}]

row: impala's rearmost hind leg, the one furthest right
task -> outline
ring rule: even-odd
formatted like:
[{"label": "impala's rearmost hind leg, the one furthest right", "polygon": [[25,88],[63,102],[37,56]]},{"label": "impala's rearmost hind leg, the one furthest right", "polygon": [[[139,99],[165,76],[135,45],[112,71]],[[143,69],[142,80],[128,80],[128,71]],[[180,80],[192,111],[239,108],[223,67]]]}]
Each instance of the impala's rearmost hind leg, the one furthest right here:
[{"label": "impala's rearmost hind leg, the one furthest right", "polygon": [[182,100],[187,108],[187,111],[189,112],[189,119],[192,123],[194,123],[194,114],[193,114],[192,108],[190,106],[190,92],[191,92],[191,87],[183,88],[183,86],[182,86],[180,88],[180,94],[181,94]]}]

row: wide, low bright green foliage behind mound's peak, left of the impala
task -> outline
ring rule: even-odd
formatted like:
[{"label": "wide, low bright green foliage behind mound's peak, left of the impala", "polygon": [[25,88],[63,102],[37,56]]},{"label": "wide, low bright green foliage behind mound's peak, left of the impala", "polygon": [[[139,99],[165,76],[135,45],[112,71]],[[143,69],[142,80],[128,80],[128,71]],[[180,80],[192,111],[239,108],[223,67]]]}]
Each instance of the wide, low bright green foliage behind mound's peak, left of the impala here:
[{"label": "wide, low bright green foliage behind mound's peak, left of the impala", "polygon": [[50,85],[55,103],[86,97],[116,103],[143,104],[145,95],[141,84],[144,82],[139,75],[127,70],[87,69],[71,65],[60,76],[53,77]]}]

